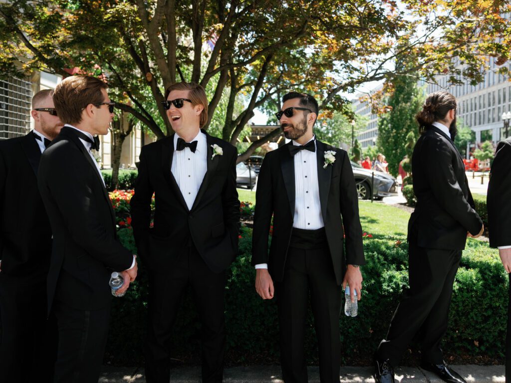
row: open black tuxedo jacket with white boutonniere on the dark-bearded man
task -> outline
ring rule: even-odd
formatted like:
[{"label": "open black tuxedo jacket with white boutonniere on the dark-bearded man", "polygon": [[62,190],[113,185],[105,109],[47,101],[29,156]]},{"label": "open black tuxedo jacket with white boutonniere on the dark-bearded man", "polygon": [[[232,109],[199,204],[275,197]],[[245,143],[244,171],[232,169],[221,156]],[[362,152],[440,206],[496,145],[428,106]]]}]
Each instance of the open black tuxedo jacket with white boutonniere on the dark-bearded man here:
[{"label": "open black tuxedo jacket with white boutonniere on the dark-bearded man", "polygon": [[[294,159],[289,153],[289,145],[293,143],[266,154],[259,172],[255,201],[252,265],[268,264],[268,271],[276,281],[282,281],[284,276],[295,211]],[[329,150],[336,152],[335,161],[323,169],[324,152]],[[357,188],[350,158],[344,150],[316,140],[316,159],[321,215],[335,277],[340,285],[347,264],[365,264]],[[268,253],[272,215],[273,235]]]}]

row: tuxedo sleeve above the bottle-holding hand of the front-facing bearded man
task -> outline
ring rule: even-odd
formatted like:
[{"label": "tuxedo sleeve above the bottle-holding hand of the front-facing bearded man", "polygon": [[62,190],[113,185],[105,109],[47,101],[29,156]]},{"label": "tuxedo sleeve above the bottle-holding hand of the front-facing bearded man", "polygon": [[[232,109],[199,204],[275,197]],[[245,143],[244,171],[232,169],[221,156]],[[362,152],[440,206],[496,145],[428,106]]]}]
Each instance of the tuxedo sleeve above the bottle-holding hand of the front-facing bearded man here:
[{"label": "tuxedo sleeve above the bottle-holding hand of the front-facing bearded man", "polygon": [[362,226],[358,212],[358,194],[350,158],[342,151],[340,176],[340,206],[346,245],[346,264],[364,265]]}]

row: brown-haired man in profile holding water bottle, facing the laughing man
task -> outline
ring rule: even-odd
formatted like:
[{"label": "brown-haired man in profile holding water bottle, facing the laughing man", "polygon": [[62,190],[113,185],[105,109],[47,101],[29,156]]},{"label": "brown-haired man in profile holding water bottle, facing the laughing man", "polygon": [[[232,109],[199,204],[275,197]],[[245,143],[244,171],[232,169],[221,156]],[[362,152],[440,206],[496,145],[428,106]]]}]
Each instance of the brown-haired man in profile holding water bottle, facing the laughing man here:
[{"label": "brown-haired man in profile holding water bottle, facing the laughing man", "polygon": [[41,156],[38,184],[53,232],[48,303],[59,329],[55,382],[96,383],[110,317],[110,273],[123,275],[122,294],[137,272],[134,256],[116,238],[112,205],[90,153],[99,148],[93,135],[108,132],[114,104],[106,84],[88,76],[63,80],[53,101],[65,125]]}]

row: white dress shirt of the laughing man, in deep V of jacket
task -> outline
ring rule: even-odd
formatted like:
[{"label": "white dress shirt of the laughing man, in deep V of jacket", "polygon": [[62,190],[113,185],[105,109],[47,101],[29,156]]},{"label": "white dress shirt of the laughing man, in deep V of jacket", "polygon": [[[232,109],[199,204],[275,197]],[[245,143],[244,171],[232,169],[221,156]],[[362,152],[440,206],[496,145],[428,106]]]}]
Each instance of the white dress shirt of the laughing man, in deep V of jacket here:
[{"label": "white dress shirt of the laughing man, in deep V of jacket", "polygon": [[199,133],[190,142],[197,141],[197,149],[193,153],[190,148],[177,149],[177,139],[182,138],[174,135],[174,154],[172,157],[172,175],[176,179],[177,186],[181,190],[188,209],[191,210],[200,185],[207,171],[207,141],[206,135]]}]

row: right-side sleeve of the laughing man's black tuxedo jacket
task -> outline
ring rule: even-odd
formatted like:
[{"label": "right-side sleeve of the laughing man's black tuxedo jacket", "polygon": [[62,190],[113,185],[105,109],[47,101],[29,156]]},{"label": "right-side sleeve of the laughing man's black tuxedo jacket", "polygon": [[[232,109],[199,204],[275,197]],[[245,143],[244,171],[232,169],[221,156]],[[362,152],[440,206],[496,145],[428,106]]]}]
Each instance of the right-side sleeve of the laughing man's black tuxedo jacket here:
[{"label": "right-side sleeve of the laughing man's black tuxedo jacket", "polygon": [[238,250],[238,233],[240,231],[240,201],[236,190],[236,160],[238,158],[236,149],[233,148],[233,155],[229,159],[227,178],[222,188],[222,205],[225,228],[233,238],[234,250]]}]

